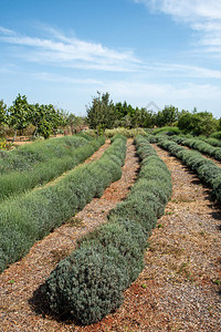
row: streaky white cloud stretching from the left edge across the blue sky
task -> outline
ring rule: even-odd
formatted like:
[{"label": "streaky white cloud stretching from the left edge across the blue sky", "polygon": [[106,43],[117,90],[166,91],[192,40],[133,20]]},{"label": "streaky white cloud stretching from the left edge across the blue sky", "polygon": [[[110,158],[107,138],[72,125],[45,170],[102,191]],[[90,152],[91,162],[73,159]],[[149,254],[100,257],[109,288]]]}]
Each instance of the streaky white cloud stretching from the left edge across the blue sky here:
[{"label": "streaky white cloud stretching from the left edge across the blue sky", "polygon": [[62,63],[71,68],[105,71],[134,71],[139,63],[131,51],[116,51],[101,43],[69,38],[54,29],[48,29],[53,38],[19,34],[0,27],[0,40],[22,46],[20,56],[43,63]]}]

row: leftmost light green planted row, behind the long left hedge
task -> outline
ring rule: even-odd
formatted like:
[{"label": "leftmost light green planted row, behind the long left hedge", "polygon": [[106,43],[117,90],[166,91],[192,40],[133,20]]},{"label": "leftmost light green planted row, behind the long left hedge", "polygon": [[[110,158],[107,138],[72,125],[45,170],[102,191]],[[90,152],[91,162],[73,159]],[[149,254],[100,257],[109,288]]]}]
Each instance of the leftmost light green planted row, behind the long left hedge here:
[{"label": "leftmost light green planted row, behind the long left hedge", "polygon": [[104,137],[88,142],[81,136],[71,136],[51,138],[46,144],[33,143],[32,147],[2,155],[0,200],[49,183],[84,162],[102,144]]}]

